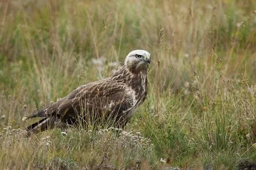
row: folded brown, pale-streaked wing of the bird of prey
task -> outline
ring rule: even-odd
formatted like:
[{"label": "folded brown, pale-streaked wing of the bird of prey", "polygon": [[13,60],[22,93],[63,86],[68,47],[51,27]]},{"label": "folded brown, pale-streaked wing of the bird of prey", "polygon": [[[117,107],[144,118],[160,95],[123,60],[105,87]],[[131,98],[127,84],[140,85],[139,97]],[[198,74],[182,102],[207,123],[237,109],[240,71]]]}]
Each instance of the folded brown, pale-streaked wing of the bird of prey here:
[{"label": "folded brown, pale-streaked wing of the bird of prey", "polygon": [[57,110],[58,113],[62,113],[64,110],[80,106],[81,103],[86,104],[88,107],[97,106],[97,108],[104,108],[109,104],[129,103],[130,105],[133,103],[133,98],[131,88],[127,87],[125,83],[105,79],[77,87],[66,97],[45,107],[45,114],[51,115]]}]

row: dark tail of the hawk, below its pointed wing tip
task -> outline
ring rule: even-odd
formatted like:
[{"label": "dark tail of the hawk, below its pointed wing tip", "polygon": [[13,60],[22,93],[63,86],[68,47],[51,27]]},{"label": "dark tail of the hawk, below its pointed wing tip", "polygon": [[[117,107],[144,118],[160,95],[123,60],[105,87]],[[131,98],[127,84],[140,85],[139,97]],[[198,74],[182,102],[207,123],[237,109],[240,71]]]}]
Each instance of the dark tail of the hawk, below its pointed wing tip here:
[{"label": "dark tail of the hawk, below its pointed wing tip", "polygon": [[35,124],[27,127],[27,137],[31,136],[31,134],[52,129],[52,127],[54,127],[54,117],[45,117],[38,122],[35,122]]}]

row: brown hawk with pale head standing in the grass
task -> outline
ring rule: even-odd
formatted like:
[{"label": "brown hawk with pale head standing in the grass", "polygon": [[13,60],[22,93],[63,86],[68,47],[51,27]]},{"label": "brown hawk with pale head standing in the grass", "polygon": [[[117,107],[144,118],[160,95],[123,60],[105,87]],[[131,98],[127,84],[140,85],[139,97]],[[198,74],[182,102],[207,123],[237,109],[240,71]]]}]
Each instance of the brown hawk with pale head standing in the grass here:
[{"label": "brown hawk with pale head standing in the grass", "polygon": [[124,128],[138,106],[147,97],[147,69],[150,53],[130,52],[122,66],[111,77],[81,85],[76,90],[22,118],[41,117],[27,127],[27,136],[54,127],[68,125],[111,125]]}]

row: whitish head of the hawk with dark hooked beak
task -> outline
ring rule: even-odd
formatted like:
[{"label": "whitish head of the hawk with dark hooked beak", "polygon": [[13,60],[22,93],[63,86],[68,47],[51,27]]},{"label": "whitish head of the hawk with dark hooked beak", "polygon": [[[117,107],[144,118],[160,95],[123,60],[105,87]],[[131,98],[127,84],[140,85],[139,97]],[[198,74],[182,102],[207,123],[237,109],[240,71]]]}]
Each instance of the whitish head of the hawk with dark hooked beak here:
[{"label": "whitish head of the hawk with dark hooked beak", "polygon": [[147,70],[150,64],[150,53],[145,50],[133,50],[125,58],[124,65],[134,72]]}]

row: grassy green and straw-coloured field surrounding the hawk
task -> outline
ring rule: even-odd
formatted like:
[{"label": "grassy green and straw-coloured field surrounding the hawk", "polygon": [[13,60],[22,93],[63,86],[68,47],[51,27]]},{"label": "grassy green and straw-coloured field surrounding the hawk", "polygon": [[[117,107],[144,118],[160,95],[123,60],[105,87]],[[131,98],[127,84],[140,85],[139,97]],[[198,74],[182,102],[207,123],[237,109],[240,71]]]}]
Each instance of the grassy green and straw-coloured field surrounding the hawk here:
[{"label": "grassy green and straw-coloured field surrounding the hawk", "polygon": [[[0,167],[256,167],[256,1],[1,1]],[[29,115],[151,53],[125,129],[24,137]],[[2,169],[2,168],[1,168]]]}]

